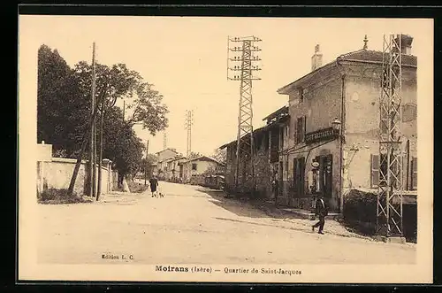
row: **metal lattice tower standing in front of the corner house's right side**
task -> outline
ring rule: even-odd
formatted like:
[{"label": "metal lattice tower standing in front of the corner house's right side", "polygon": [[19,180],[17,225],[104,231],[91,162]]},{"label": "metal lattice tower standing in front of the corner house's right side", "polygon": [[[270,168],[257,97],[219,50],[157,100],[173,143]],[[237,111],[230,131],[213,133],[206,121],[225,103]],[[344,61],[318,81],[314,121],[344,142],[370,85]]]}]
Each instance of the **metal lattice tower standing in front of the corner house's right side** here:
[{"label": "metal lattice tower standing in front of the corner house's right side", "polygon": [[384,36],[379,99],[377,235],[402,236],[402,52],[401,35]]}]

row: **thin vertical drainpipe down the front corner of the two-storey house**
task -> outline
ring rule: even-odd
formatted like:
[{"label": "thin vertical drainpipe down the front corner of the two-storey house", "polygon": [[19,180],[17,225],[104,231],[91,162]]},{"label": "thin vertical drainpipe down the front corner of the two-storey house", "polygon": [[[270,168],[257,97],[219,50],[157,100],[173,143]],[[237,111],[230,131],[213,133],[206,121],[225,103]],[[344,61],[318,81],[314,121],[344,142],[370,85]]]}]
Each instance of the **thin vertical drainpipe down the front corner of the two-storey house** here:
[{"label": "thin vertical drainpipe down the front corner of the two-storey house", "polygon": [[[339,58],[336,59],[336,66],[341,78],[341,104],[340,104],[340,133],[339,133],[339,212],[341,215],[344,214],[344,127],[345,127],[345,91],[346,91],[346,73],[342,66],[339,64]],[[342,71],[341,71],[342,69]]]}]

